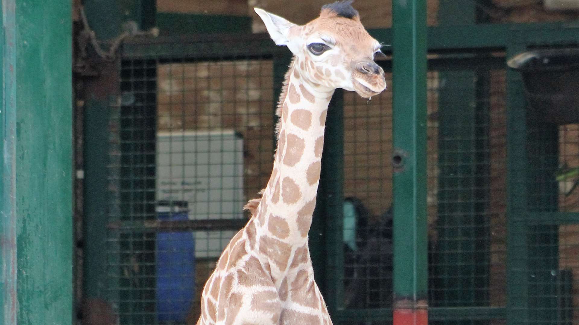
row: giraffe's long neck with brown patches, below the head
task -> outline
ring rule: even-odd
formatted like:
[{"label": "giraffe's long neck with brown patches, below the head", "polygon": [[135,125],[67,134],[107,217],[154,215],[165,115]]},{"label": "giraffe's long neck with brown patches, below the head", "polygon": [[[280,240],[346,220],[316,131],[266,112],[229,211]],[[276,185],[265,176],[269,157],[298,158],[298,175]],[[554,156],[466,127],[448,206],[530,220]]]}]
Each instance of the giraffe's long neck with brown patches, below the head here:
[{"label": "giraffe's long neck with brown patches, below the head", "polygon": [[[302,78],[297,60],[286,75],[285,85],[278,109],[273,172],[254,217],[260,237],[272,238],[280,248],[288,248],[284,254],[291,263],[291,256],[298,254],[296,249],[307,250],[320,180],[325,118],[334,89]],[[290,263],[277,263],[278,271],[288,271]]]}]

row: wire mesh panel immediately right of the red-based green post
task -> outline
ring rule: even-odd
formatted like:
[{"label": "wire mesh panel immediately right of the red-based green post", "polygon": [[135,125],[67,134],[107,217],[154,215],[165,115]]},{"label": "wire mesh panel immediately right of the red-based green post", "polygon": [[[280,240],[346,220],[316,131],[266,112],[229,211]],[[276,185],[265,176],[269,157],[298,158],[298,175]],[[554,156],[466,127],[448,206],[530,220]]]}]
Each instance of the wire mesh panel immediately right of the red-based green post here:
[{"label": "wire mesh panel immediately right of the red-based green post", "polygon": [[[504,306],[504,71],[437,73],[429,112],[430,305]],[[460,94],[460,95],[457,95]],[[434,149],[436,146],[436,149]],[[431,192],[432,193],[432,192]],[[435,215],[433,215],[435,213]],[[432,220],[435,219],[435,220]]]}]

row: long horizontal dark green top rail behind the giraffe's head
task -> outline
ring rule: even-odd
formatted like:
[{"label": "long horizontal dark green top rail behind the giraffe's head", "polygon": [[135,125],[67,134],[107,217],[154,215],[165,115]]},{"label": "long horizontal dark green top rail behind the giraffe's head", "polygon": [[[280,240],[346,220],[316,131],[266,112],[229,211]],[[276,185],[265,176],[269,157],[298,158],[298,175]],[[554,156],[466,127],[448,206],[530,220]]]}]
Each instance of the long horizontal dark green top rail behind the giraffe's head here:
[{"label": "long horizontal dark green top rail behind the giraffe's head", "polygon": [[[391,28],[369,29],[368,32],[382,43],[387,45],[393,43],[393,29]],[[442,25],[428,27],[426,34],[429,51],[505,49],[511,42],[512,34],[525,35],[526,42],[534,44],[577,43],[579,42],[579,23]],[[215,42],[214,46],[206,43],[203,46],[195,44],[195,42],[207,42],[212,39],[220,40],[220,42]],[[221,57],[223,56],[223,40],[231,40],[227,55],[232,57],[241,54],[259,56],[284,50],[273,45],[267,34],[235,33],[162,36],[155,39],[130,38],[123,46],[123,56],[127,58]],[[389,50],[391,47],[384,47],[384,51]]]}]

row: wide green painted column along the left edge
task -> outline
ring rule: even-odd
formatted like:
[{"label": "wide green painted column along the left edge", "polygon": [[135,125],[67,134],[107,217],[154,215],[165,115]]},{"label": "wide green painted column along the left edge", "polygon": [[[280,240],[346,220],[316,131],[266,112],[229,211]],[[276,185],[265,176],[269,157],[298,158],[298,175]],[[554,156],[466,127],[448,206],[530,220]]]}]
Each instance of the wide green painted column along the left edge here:
[{"label": "wide green painted column along the left edge", "polygon": [[2,1],[3,324],[72,323],[71,1]]}]

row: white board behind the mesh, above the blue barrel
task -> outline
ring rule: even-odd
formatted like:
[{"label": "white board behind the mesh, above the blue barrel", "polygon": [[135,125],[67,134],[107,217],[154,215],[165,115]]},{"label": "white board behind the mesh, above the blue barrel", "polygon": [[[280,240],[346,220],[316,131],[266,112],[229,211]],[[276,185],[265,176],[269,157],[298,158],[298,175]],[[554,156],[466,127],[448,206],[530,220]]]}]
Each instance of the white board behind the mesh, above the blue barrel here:
[{"label": "white board behind the mesh, above the blue barrel", "polygon": [[[190,220],[243,218],[243,138],[233,130],[157,132],[157,201],[187,201]],[[196,257],[218,257],[234,231],[195,231]]]}]

